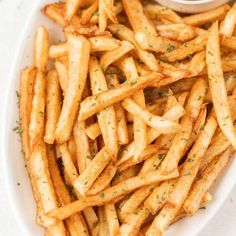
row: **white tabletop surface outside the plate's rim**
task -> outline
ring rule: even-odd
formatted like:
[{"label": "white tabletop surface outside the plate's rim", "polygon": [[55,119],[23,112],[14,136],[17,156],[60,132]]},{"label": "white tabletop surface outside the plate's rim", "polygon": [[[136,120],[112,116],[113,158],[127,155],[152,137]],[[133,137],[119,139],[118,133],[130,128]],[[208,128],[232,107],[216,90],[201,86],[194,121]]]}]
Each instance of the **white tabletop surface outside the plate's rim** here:
[{"label": "white tabletop surface outside the plate's rim", "polygon": [[[5,98],[5,88],[8,83],[8,74],[14,52],[34,1],[0,0],[0,108],[2,107],[1,102]],[[0,123],[3,115],[0,110]],[[23,236],[12,214],[3,176],[0,159],[0,235]],[[27,211],[27,206],[25,206],[25,210]],[[235,225],[236,186],[217,215],[202,230],[199,236],[235,236]],[[189,235],[191,236],[191,232]]]}]

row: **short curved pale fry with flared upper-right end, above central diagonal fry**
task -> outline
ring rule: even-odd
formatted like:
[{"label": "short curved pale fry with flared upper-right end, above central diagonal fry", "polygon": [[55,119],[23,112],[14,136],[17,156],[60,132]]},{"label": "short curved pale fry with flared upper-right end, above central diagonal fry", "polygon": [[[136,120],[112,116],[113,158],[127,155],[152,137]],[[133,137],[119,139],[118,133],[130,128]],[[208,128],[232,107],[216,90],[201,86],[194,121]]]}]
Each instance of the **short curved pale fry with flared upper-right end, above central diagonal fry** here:
[{"label": "short curved pale fry with flared upper-right end, above central diagonal fry", "polygon": [[126,53],[133,49],[133,45],[128,41],[121,41],[121,46],[113,51],[104,53],[100,58],[100,64],[102,69],[105,71],[107,67],[119,58],[124,56]]}]

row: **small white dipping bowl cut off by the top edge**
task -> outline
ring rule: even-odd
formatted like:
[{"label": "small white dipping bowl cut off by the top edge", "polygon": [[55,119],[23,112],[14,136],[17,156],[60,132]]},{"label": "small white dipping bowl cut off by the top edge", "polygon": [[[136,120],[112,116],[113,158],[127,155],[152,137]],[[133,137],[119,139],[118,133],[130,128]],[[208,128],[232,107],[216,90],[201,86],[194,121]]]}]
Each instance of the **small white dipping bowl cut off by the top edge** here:
[{"label": "small white dipping bowl cut off by the top edge", "polygon": [[161,5],[182,13],[198,13],[211,10],[229,0],[155,0]]}]

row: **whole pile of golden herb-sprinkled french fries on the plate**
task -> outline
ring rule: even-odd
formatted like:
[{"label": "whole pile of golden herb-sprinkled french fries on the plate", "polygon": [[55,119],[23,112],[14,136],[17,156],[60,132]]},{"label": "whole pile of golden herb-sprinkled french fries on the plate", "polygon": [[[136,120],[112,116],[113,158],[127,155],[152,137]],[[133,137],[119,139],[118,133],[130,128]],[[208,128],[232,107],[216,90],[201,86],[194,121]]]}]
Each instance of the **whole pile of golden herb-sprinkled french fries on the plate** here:
[{"label": "whole pile of golden herb-sprinkled french fries on the plate", "polygon": [[236,148],[236,4],[181,17],[140,0],[42,12],[21,71],[25,162],[45,235],[162,235],[212,200]]}]

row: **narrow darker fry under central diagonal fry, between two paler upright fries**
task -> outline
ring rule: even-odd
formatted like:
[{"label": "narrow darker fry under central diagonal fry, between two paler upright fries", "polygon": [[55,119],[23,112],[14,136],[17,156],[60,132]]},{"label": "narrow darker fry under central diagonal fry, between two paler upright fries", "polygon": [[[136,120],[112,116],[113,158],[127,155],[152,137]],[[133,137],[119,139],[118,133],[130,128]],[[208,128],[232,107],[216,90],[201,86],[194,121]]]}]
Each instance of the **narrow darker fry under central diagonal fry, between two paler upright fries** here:
[{"label": "narrow darker fry under central diagonal fry, between two paler upright fries", "polygon": [[[111,89],[118,86],[120,83],[116,74],[111,74],[111,73],[108,74],[108,72],[109,71],[107,71],[106,73],[107,84],[108,88]],[[118,142],[120,145],[124,145],[129,142],[125,110],[120,103],[116,103],[114,105],[114,109],[116,112],[116,120],[117,120]]]}]

